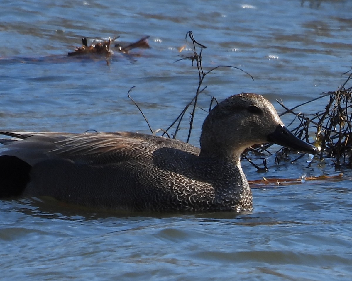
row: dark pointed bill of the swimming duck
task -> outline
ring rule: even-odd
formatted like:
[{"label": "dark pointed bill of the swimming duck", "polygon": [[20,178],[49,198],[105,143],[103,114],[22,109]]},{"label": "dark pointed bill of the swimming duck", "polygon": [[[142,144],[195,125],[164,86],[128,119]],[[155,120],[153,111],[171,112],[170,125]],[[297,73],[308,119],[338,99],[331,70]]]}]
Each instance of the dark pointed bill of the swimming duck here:
[{"label": "dark pointed bill of the swimming duck", "polygon": [[316,154],[319,152],[318,148],[314,145],[298,139],[293,133],[290,132],[290,130],[282,125],[278,125],[274,133],[268,135],[268,141],[311,154]]}]

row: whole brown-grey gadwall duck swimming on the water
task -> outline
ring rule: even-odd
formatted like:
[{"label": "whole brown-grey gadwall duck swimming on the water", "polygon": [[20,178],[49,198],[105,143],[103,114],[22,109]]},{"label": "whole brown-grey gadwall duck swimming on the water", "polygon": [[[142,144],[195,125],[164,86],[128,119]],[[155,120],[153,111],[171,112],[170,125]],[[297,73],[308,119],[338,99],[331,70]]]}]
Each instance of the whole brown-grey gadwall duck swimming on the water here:
[{"label": "whole brown-grey gadwall duck swimming on the water", "polygon": [[0,197],[50,196],[130,211],[250,211],[252,193],[240,164],[247,147],[274,142],[317,152],[255,94],[215,106],[203,123],[200,149],[127,132],[0,134],[13,137],[0,140]]}]

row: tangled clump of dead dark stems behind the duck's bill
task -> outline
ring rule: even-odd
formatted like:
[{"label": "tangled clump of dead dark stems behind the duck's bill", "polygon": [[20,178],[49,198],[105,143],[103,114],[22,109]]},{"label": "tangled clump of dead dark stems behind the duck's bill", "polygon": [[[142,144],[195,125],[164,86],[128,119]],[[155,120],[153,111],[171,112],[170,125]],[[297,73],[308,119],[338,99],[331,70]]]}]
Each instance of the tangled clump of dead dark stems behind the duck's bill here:
[{"label": "tangled clump of dead dark stems behind the duck's bill", "polygon": [[337,170],[341,166],[352,167],[352,87],[347,88],[352,77],[351,71],[352,68],[344,73],[350,74],[338,90],[322,93],[319,97],[304,103],[328,97],[322,111],[309,115],[297,113],[296,109],[303,104],[288,109],[279,102],[286,109],[283,114],[293,114],[300,121],[292,131],[305,140],[308,140],[309,135],[313,135],[314,145],[321,148],[320,159],[333,158]]}]

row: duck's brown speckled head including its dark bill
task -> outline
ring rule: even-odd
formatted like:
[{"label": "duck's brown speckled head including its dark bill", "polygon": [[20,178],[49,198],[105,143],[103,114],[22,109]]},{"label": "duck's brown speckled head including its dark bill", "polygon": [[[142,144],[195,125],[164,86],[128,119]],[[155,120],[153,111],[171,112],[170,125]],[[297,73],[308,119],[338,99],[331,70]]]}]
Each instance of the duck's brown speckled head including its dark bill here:
[{"label": "duck's brown speckled head including its dark bill", "polygon": [[265,142],[318,153],[284,126],[266,98],[246,93],[226,98],[209,112],[202,127],[200,155],[239,158],[247,147]]}]

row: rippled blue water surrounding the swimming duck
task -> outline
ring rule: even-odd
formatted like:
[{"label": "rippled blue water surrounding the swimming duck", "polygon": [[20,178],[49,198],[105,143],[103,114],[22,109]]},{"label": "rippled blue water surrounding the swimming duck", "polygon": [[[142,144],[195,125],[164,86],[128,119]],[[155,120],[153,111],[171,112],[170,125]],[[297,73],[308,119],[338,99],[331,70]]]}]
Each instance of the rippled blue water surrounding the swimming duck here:
[{"label": "rippled blue water surrounding the swimming duck", "polygon": [[[207,46],[199,107],[256,92],[288,107],[335,90],[351,68],[351,1],[2,1],[0,128],[149,132],[167,128],[194,96],[187,31]],[[81,38],[149,35],[151,49],[66,57]],[[326,100],[305,113],[323,110]],[[190,111],[189,111],[190,112]],[[187,114],[189,114],[189,112]],[[191,143],[206,113],[197,110]],[[188,116],[187,116],[188,117]],[[177,137],[185,140],[188,118]],[[292,116],[285,115],[289,123]],[[311,139],[312,141],[313,139]],[[271,152],[275,153],[276,148]],[[293,155],[292,157],[295,157]],[[337,175],[331,159],[274,163],[251,180]],[[256,160],[260,164],[262,160]],[[0,201],[2,280],[350,280],[351,172],[335,180],[253,188],[254,211],[115,213],[48,198]]]}]

